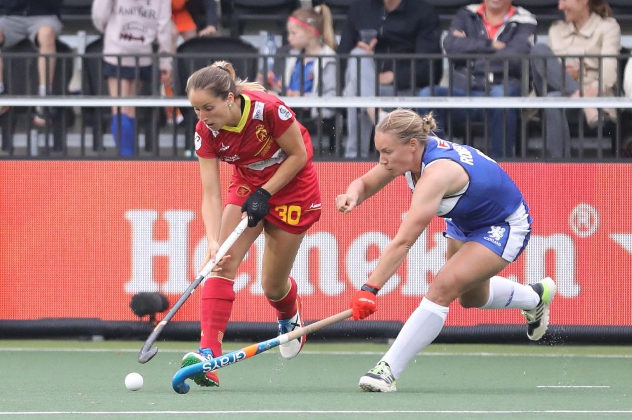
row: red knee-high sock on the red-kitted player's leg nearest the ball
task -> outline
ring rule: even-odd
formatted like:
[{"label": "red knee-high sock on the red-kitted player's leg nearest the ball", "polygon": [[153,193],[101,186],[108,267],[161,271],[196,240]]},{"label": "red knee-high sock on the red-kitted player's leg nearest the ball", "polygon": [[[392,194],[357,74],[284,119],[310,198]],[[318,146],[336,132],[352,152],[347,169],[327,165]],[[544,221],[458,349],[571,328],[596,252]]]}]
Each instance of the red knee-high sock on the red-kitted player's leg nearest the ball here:
[{"label": "red knee-high sock on the red-kitted player's leg nearest the ball", "polygon": [[200,347],[209,348],[213,357],[221,356],[222,340],[228,319],[231,317],[235,292],[233,280],[224,277],[209,277],[202,288]]}]

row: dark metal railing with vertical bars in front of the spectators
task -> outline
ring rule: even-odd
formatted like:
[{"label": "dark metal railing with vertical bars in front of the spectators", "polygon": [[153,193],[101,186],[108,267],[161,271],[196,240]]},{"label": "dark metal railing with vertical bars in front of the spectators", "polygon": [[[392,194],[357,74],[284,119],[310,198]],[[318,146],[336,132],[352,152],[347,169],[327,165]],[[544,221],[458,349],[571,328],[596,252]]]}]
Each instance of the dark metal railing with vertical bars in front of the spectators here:
[{"label": "dark metal railing with vertical bars in front of the spectators", "polygon": [[[240,74],[241,77],[248,77],[252,80],[256,74],[267,75],[270,63],[267,58],[274,58],[274,69],[277,64],[285,63],[290,57],[288,54],[276,54],[266,56],[265,54],[176,54],[174,56],[174,87],[176,96],[167,98],[161,93],[161,86],[158,83],[157,63],[158,55],[152,54],[153,72],[149,87],[136,97],[109,97],[107,88],[102,76],[100,62],[102,54],[86,53],[77,54],[52,54],[45,56],[46,60],[57,59],[56,73],[68,75],[68,66],[77,61],[82,63],[82,82],[80,92],[71,93],[68,90],[68,80],[64,79],[54,83],[52,94],[46,97],[39,97],[33,86],[33,71],[37,74],[37,54],[3,54],[5,66],[4,85],[7,87],[6,93],[0,95],[0,107],[8,107],[0,116],[0,130],[2,133],[2,157],[78,157],[82,159],[112,159],[118,157],[119,150],[116,148],[109,133],[107,121],[111,118],[109,108],[121,106],[138,107],[137,128],[135,131],[135,157],[138,159],[156,159],[159,157],[167,159],[186,159],[195,155],[193,152],[192,131],[195,121],[190,110],[188,100],[178,92],[183,92],[183,83],[186,77],[199,67],[200,63],[210,64],[218,56],[222,59],[241,63],[236,66],[240,69],[250,68],[251,74]],[[547,146],[550,139],[545,135],[546,119],[537,117],[540,111],[545,109],[599,109],[599,119],[597,126],[592,129],[585,124],[576,124],[576,129],[571,130],[572,144],[564,151],[564,159],[619,159],[625,157],[624,147],[632,136],[628,109],[632,108],[632,99],[622,97],[621,86],[623,85],[623,71],[617,71],[617,83],[614,87],[613,97],[583,97],[583,75],[586,66],[585,59],[597,59],[597,73],[599,92],[602,92],[603,62],[605,59],[616,59],[619,66],[624,65],[627,56],[586,56],[579,61],[580,67],[580,97],[547,97],[546,90],[543,97],[529,97],[532,91],[530,81],[530,63],[533,56],[504,56],[502,58],[493,55],[418,55],[418,54],[375,54],[371,57],[338,55],[334,57],[336,66],[335,72],[335,95],[322,96],[323,85],[319,84],[319,92],[310,96],[282,96],[286,104],[297,112],[301,122],[307,120],[313,125],[310,127],[313,145],[315,147],[315,159],[343,159],[345,157],[345,147],[350,141],[360,143],[366,141],[361,138],[359,132],[356,138],[348,138],[346,131],[348,119],[345,119],[347,109],[367,109],[376,108],[388,111],[396,107],[411,107],[419,110],[433,109],[446,111],[446,124],[444,131],[438,133],[446,140],[458,141],[489,150],[492,146],[490,135],[490,112],[502,110],[502,138],[503,147],[501,157],[511,157],[513,153],[507,153],[507,119],[508,113],[515,109],[518,111],[516,121],[515,156],[520,159],[547,159]],[[374,95],[370,97],[355,97],[344,95],[343,77],[345,75],[345,64],[355,66],[357,78],[356,88],[360,88],[360,78],[362,73],[368,71],[364,65],[365,59],[373,61],[377,68],[374,79]],[[542,58],[542,57],[541,57]],[[562,66],[565,61],[573,57],[560,57]],[[137,63],[140,56],[137,57]],[[324,68],[327,56],[298,56],[298,63],[305,63],[310,59],[316,59],[315,66],[318,66],[320,74]],[[349,62],[349,60],[351,60]],[[355,63],[353,63],[355,61]],[[455,89],[455,75],[465,74],[467,80],[475,81],[477,73],[476,64],[485,63],[484,74],[494,74],[494,80],[501,78],[502,83],[495,83],[489,77],[483,78],[482,88],[473,83],[466,87],[465,97],[439,97],[437,89],[444,88],[448,95],[453,95]],[[21,63],[16,65],[16,63]],[[250,63],[250,64],[248,64]],[[438,66],[437,63],[441,63]],[[499,66],[500,63],[500,66]],[[509,92],[511,83],[512,68],[520,66],[520,78],[517,83],[520,85],[520,95],[516,97],[488,97],[490,90],[494,86],[502,86],[503,92]],[[545,61],[546,63],[546,61]],[[96,65],[95,65],[96,64]],[[545,64],[547,65],[547,64]],[[248,67],[250,66],[250,67]],[[502,68],[502,71],[492,72],[492,67]],[[512,67],[513,66],[513,67]],[[382,68],[393,69],[397,74],[398,69],[410,68],[410,79],[400,81],[393,88],[391,95],[383,96],[380,92],[379,71]],[[279,66],[283,68],[283,66]],[[22,69],[22,71],[21,71]],[[441,74],[443,73],[440,83]],[[17,71],[17,73],[16,73]],[[244,70],[245,71],[245,70]],[[420,97],[420,83],[418,74],[425,71],[428,81],[428,97]],[[464,72],[465,71],[465,72]],[[70,71],[70,73],[72,73]],[[185,73],[185,74],[182,74]],[[140,76],[140,72],[135,72],[135,77]],[[300,72],[300,87],[305,85],[303,72]],[[96,83],[94,83],[96,81]],[[279,75],[280,85],[286,87],[288,80],[286,72]],[[331,82],[331,81],[328,81]],[[514,80],[514,83],[516,80]],[[23,85],[20,85],[23,83]],[[88,83],[92,83],[88,85]],[[267,83],[264,77],[264,83]],[[330,83],[331,84],[331,83]],[[404,85],[402,88],[400,85]],[[408,85],[408,89],[406,89]],[[413,89],[410,89],[413,86]],[[471,96],[471,93],[479,88],[482,93],[478,97]],[[120,91],[120,89],[119,89]],[[279,93],[283,95],[284,91]],[[301,95],[304,92],[300,92]],[[406,96],[401,96],[405,93]],[[601,95],[601,93],[599,93]],[[45,107],[51,110],[51,121],[42,127],[33,125],[33,109],[35,107]],[[171,111],[171,120],[177,121],[179,108],[185,116],[185,124],[166,124],[166,109]],[[616,118],[608,119],[603,109],[616,109]],[[316,109],[315,116],[305,109]],[[334,110],[333,118],[324,118],[323,110]],[[454,118],[456,110],[468,109],[463,119]],[[481,121],[471,117],[471,112],[484,109]],[[535,109],[539,111],[529,112]],[[362,112],[358,112],[356,118],[364,117]],[[536,115],[534,118],[533,115]],[[580,120],[581,122],[581,120]],[[326,124],[329,124],[327,126]],[[89,132],[88,132],[89,131]],[[367,157],[356,159],[375,159],[377,155],[374,150],[370,150]]]}]

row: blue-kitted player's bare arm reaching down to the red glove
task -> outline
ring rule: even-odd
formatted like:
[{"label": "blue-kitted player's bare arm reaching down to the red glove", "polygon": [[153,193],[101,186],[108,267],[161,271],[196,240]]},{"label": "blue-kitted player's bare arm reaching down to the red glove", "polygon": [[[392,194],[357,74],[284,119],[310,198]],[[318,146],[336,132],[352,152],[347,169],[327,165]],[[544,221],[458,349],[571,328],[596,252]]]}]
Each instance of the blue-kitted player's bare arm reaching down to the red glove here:
[{"label": "blue-kitted player's bare arm reaching down to the red glove", "polygon": [[396,236],[384,249],[375,271],[367,283],[382,287],[398,270],[411,246],[437,213],[444,196],[456,193],[468,183],[465,170],[451,160],[439,160],[419,178],[413,192],[410,209]]}]

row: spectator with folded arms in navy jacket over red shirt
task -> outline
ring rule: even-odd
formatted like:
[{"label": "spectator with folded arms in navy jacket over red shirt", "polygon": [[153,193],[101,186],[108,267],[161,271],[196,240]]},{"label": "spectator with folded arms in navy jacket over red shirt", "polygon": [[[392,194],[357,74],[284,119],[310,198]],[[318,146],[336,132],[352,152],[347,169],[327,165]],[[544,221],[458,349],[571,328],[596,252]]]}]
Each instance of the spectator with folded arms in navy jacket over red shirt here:
[{"label": "spectator with folded arms in navy jacket over red shirt", "polygon": [[[443,41],[447,54],[486,54],[493,58],[456,61],[452,96],[464,97],[468,95],[467,92],[473,97],[520,96],[523,66],[518,55],[531,51],[536,28],[535,16],[524,8],[513,6],[511,0],[483,0],[480,4],[470,4],[460,9]],[[507,86],[504,80],[505,64],[508,64],[509,70]],[[431,94],[430,87],[420,92],[420,96],[424,97]],[[449,96],[449,88],[434,87],[434,95]],[[426,112],[420,111],[421,114]],[[438,125],[445,131],[446,110],[435,112]],[[466,112],[470,113],[474,121],[485,121],[485,114],[489,112],[491,150],[487,152],[491,157],[514,156],[518,110],[456,109],[450,112],[453,121],[464,121]]]}]

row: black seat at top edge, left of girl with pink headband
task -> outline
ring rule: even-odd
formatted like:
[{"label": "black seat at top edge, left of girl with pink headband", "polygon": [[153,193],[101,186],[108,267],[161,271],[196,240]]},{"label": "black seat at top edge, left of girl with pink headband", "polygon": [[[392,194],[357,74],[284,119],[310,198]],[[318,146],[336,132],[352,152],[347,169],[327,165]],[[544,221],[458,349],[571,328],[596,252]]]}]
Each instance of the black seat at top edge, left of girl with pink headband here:
[{"label": "black seat at top edge, left of girl with pink headband", "polygon": [[300,0],[221,0],[222,25],[230,28],[231,36],[243,34],[246,22],[273,22],[283,32],[285,22]]}]

